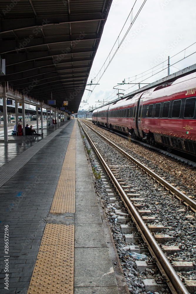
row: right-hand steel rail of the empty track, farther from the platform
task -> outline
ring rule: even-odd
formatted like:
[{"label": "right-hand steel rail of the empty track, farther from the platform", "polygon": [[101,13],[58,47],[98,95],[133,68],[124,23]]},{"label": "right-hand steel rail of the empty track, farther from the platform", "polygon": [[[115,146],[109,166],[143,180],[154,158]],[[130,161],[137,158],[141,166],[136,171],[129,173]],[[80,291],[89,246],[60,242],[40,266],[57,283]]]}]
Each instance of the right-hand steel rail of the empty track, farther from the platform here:
[{"label": "right-hand steel rail of the empty track, farther from the platform", "polygon": [[[86,124],[85,122],[83,122],[83,123]],[[88,125],[86,124],[86,126],[88,126]],[[88,126],[88,128],[91,128],[91,126]],[[117,145],[115,145],[113,142],[111,142],[110,140],[108,140],[107,138],[105,138],[98,131],[94,130],[93,128],[91,128],[91,130],[94,131],[95,133],[97,133],[100,137],[102,137],[105,141],[107,141],[108,143],[110,143],[116,149],[118,149],[118,151],[120,151],[125,156],[127,156],[135,164],[137,164],[138,166],[140,166],[140,168],[142,168],[146,173],[148,173],[150,176],[152,176],[154,179],[156,179],[159,183],[161,183],[163,186],[165,186],[165,188],[167,188],[167,190],[171,191],[173,194],[175,194],[180,199],[182,199],[184,202],[186,202],[187,205],[189,205],[190,208],[192,208],[192,210],[194,212],[196,212],[196,202],[195,201],[193,201],[191,198],[187,197],[184,193],[182,193],[181,191],[179,191],[178,189],[176,189],[175,187],[173,187],[170,183],[168,183],[163,178],[161,178],[160,176],[158,176],[156,173],[154,173],[153,171],[151,171],[149,168],[147,168],[145,165],[143,165],[137,159],[135,159],[130,154],[128,154],[127,152],[125,152],[123,149],[121,149],[120,147],[118,147]]]}]

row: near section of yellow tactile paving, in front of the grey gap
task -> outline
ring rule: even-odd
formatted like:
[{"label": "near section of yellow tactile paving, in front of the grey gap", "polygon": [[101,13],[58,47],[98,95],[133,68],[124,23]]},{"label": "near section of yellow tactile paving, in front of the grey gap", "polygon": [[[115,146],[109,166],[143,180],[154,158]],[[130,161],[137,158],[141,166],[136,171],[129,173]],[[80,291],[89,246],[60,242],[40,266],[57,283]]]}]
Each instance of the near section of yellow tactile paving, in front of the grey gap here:
[{"label": "near section of yellow tactile paving, in front of the grey gap", "polygon": [[74,225],[47,223],[27,294],[73,294],[73,258]]}]

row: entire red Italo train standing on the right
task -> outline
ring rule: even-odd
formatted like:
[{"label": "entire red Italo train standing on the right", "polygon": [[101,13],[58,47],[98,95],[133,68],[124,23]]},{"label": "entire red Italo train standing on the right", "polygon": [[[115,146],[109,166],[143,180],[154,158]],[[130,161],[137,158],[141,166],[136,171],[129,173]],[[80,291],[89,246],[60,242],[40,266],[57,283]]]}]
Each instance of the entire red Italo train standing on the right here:
[{"label": "entire red Italo train standing on the right", "polygon": [[92,121],[196,155],[196,73],[93,111]]}]

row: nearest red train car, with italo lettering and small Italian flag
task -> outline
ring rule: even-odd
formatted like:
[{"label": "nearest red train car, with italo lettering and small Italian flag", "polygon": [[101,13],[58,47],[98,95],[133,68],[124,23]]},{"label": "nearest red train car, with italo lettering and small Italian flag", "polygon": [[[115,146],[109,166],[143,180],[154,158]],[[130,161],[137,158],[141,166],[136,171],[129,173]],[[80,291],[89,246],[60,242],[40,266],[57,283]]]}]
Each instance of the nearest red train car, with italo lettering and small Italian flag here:
[{"label": "nearest red train car, with italo lettering and small Italian flag", "polygon": [[145,91],[140,97],[140,138],[196,153],[196,73]]}]

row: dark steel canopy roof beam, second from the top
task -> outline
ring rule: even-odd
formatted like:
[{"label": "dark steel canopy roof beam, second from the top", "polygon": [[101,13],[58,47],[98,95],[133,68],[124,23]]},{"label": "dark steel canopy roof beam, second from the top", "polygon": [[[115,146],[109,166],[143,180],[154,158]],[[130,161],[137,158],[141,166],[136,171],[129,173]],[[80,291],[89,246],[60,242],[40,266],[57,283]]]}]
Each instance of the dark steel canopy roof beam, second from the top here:
[{"label": "dark steel canopy roof beam, second from the top", "polygon": [[[28,49],[34,46],[43,46],[50,44],[58,44],[64,42],[73,42],[72,48],[74,44],[79,44],[81,41],[87,40],[97,40],[100,39],[100,34],[94,35],[86,35],[84,33],[78,36],[65,36],[65,37],[50,37],[50,38],[33,38],[33,35],[29,35],[29,37],[21,39],[21,40],[2,40],[0,44],[0,54],[16,51],[17,53],[20,50]],[[65,44],[66,46],[66,44]]]}]

